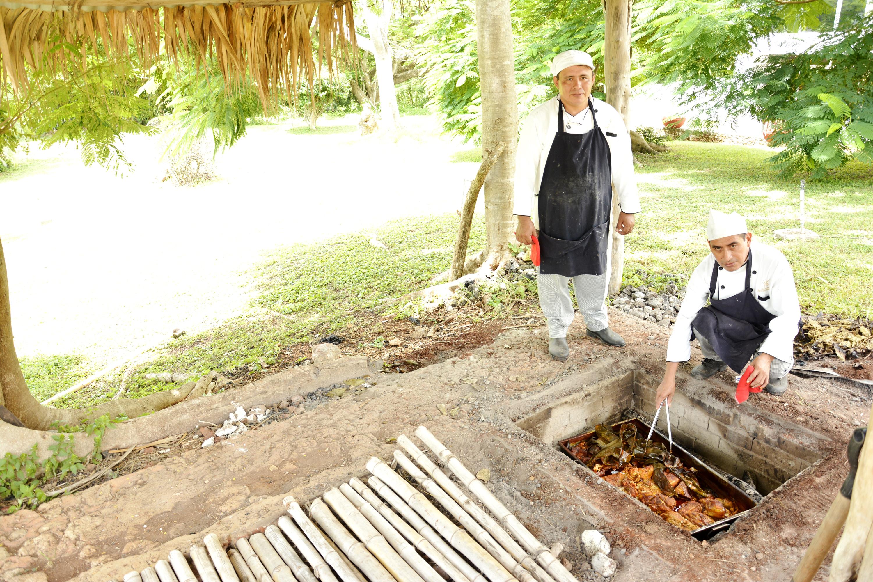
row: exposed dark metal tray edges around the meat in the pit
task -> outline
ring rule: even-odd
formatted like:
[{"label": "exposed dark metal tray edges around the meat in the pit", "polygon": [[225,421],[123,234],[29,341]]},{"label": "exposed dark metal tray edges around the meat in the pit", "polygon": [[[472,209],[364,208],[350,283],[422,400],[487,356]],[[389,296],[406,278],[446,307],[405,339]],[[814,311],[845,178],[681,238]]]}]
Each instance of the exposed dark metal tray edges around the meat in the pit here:
[{"label": "exposed dark metal tray edges around the meat in the pit", "polygon": [[[650,424],[645,419],[636,414],[631,415],[630,418],[621,421],[604,422],[604,424],[607,425],[609,428],[618,428],[622,426],[622,424],[625,424],[627,422],[636,425],[638,433],[643,435],[649,434]],[[576,446],[580,442],[588,441],[588,439],[591,438],[591,435],[594,435],[594,432],[594,429],[588,430],[581,435],[576,435],[568,439],[564,439],[563,441],[558,442],[558,445],[560,446],[561,450],[563,450],[564,453],[567,454],[567,456],[588,469],[588,466],[584,462],[581,462],[579,459],[575,458],[570,452],[570,443],[572,442],[572,446]],[[667,437],[664,436],[657,428],[652,433],[652,441],[662,442],[664,445],[668,444]],[[712,490],[712,492],[715,493],[716,496],[730,497],[739,507],[739,511],[731,517],[719,519],[714,524],[705,525],[695,531],[691,531],[691,535],[693,537],[696,537],[698,539],[708,539],[720,531],[727,530],[731,526],[731,524],[733,524],[733,522],[735,522],[739,517],[746,515],[749,510],[751,510],[758,503],[760,503],[761,497],[757,494],[757,492],[746,491],[743,488],[738,487],[737,484],[732,483],[732,481],[729,479],[726,479],[725,476],[722,476],[720,474],[720,472],[713,470],[707,463],[701,461],[695,455],[692,455],[690,452],[685,450],[676,442],[673,442],[673,455],[676,455],[679,460],[682,461],[682,464],[685,467],[695,467],[696,469],[698,469],[698,482],[702,486],[709,490]],[[629,496],[623,490],[622,494]],[[633,497],[631,498],[633,499]],[[649,508],[647,507],[646,509],[648,510]],[[654,511],[652,511],[652,513],[654,513]]]}]

